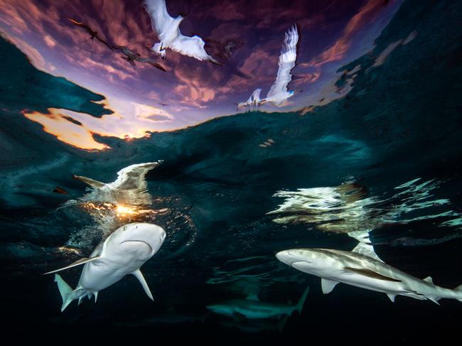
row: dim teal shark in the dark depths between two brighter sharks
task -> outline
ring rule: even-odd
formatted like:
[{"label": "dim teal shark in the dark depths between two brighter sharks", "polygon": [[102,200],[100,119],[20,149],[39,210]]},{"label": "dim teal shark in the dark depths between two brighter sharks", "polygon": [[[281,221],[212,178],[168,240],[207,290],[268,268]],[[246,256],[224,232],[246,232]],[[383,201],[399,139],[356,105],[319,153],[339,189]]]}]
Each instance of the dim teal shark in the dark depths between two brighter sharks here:
[{"label": "dim teal shark in the dark depths between two brighter sharks", "polygon": [[251,294],[245,299],[232,299],[207,306],[207,308],[214,313],[232,317],[235,320],[281,318],[284,315],[289,317],[294,311],[301,313],[308,291],[309,288],[306,288],[296,305],[267,303],[259,301],[256,295]]}]

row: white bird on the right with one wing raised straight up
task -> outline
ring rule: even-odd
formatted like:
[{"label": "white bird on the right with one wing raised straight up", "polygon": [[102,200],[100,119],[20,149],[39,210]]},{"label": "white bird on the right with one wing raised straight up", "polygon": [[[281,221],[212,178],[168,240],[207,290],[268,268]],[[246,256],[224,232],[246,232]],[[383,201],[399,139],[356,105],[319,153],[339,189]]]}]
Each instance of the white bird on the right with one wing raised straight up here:
[{"label": "white bird on the right with one wing raised straight up", "polygon": [[290,72],[295,66],[296,46],[298,41],[299,33],[294,25],[286,31],[281,55],[279,55],[279,70],[277,71],[276,81],[269,90],[267,97],[260,99],[261,89],[254,90],[247,102],[240,102],[237,104],[238,108],[251,106],[259,107],[267,102],[279,106],[286,101],[286,99],[294,95],[295,91],[287,91],[287,85],[292,78]]}]

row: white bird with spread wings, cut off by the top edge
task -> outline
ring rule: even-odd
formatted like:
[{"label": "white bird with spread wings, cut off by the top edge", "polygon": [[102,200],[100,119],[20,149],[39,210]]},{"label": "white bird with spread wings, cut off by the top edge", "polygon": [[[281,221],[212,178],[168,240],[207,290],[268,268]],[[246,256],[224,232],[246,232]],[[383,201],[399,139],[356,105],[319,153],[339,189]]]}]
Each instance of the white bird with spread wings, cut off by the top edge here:
[{"label": "white bird with spread wings, cut off by the top edge", "polygon": [[152,28],[156,31],[161,42],[152,46],[151,50],[161,55],[163,59],[166,56],[166,49],[188,55],[198,60],[208,60],[215,65],[221,65],[212,58],[204,49],[205,42],[199,36],[183,36],[180,32],[180,23],[184,16],[172,18],[167,11],[165,0],[144,0],[146,11],[151,16]]}]

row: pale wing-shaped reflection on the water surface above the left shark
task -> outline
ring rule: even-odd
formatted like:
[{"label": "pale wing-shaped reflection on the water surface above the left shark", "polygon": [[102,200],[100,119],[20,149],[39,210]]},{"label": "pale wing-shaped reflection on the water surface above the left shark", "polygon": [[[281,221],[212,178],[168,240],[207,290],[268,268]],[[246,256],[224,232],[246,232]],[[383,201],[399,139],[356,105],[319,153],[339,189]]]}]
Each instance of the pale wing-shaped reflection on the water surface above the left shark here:
[{"label": "pale wing-shaped reflection on the water surface above the left shark", "polygon": [[73,178],[93,188],[92,193],[85,195],[82,200],[97,200],[127,205],[149,205],[151,204],[151,195],[147,193],[146,173],[161,163],[163,163],[163,160],[125,167],[117,172],[117,179],[112,183],[102,183],[80,175],[74,175]]}]

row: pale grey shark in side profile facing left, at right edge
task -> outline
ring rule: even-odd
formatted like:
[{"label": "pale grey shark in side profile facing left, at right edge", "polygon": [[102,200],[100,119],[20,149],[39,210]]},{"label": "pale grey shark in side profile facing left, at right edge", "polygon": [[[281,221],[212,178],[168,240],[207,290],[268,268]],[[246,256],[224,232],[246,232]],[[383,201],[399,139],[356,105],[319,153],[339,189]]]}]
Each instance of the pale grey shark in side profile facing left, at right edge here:
[{"label": "pale grey shark in side profile facing left, at right edge", "polygon": [[339,283],[396,296],[438,303],[441,298],[462,301],[462,285],[454,289],[436,286],[431,277],[424,280],[404,273],[379,259],[355,252],[333,249],[289,249],[278,252],[279,261],[303,273],[321,277],[323,293],[331,293]]}]

